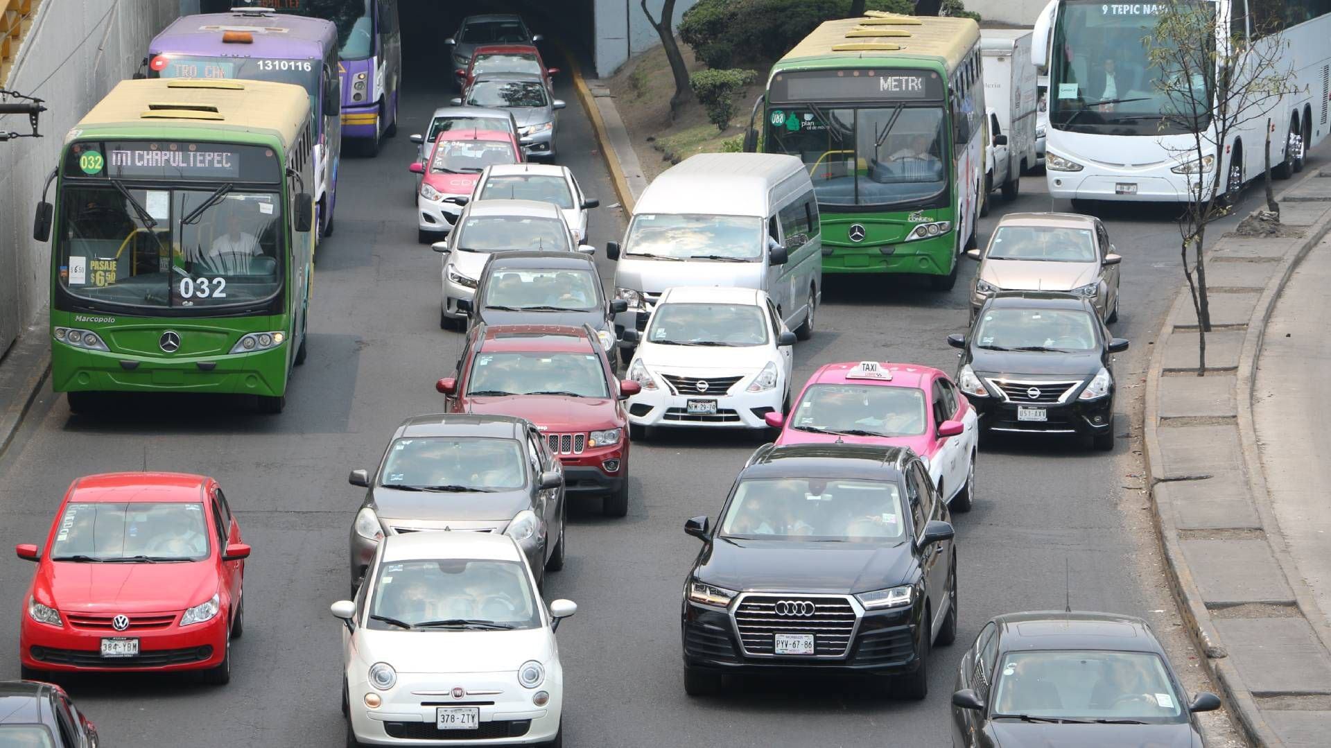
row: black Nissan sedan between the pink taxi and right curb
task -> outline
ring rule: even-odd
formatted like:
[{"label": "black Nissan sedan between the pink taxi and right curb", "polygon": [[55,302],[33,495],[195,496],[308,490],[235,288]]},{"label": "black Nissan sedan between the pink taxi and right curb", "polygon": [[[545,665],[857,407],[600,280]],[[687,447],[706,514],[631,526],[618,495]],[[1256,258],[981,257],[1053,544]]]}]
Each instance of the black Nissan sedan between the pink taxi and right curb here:
[{"label": "black Nissan sedan between the pink taxi and right curb", "polygon": [[980,434],[1079,434],[1114,449],[1111,338],[1090,299],[1065,293],[1000,291],[970,331],[948,335],[960,347],[957,386],[980,411]]}]

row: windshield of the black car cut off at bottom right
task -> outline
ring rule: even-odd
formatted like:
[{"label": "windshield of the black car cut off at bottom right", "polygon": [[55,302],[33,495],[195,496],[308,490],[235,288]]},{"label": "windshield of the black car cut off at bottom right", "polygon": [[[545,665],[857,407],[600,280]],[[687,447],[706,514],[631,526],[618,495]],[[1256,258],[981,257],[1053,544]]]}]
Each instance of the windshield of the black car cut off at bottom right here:
[{"label": "windshield of the black car cut off at bottom right", "polygon": [[1165,663],[1151,652],[1009,652],[996,675],[990,715],[996,720],[1029,716],[1147,724],[1187,721]]}]

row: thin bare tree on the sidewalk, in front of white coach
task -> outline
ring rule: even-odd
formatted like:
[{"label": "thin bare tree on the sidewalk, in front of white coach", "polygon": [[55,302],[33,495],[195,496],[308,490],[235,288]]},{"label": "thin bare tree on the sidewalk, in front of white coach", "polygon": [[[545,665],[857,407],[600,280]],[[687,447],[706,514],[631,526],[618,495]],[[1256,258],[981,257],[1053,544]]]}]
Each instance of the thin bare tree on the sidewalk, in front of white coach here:
[{"label": "thin bare tree on the sidewalk, in front of white coach", "polygon": [[[1290,92],[1284,45],[1262,33],[1248,40],[1242,17],[1234,24],[1238,29],[1227,33],[1222,23],[1214,4],[1166,0],[1155,28],[1142,40],[1158,76],[1155,92],[1163,98],[1162,142],[1189,184],[1178,229],[1183,276],[1197,313],[1198,377],[1206,375],[1206,333],[1211,330],[1202,246],[1206,228],[1230,214],[1243,186],[1243,145],[1235,136],[1258,136],[1251,126],[1258,121],[1264,125],[1268,109]],[[1169,137],[1183,133],[1187,137]],[[1250,148],[1262,145],[1258,137],[1252,140]]]}]

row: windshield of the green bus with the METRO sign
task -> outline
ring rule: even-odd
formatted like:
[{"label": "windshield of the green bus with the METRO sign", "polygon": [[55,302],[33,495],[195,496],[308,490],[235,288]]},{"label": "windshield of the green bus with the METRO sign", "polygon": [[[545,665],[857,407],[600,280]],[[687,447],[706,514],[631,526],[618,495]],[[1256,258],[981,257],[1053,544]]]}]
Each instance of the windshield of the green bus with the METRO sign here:
[{"label": "windshield of the green bus with the METRO sign", "polygon": [[916,204],[948,188],[941,106],[779,106],[767,150],[804,161],[820,205]]}]

